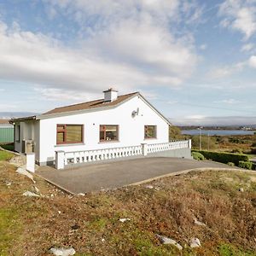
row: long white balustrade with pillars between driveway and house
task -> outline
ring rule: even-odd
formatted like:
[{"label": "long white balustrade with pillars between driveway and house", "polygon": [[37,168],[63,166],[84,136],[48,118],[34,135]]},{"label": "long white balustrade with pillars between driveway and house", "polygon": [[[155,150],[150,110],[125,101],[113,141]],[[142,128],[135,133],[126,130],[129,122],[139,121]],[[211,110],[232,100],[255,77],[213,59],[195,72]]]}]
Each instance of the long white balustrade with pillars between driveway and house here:
[{"label": "long white balustrade with pillars between driveway and house", "polygon": [[[172,141],[170,143],[143,143],[138,146],[123,148],[103,148],[76,152],[57,151],[55,166],[57,169],[62,169],[68,164],[87,163],[100,160],[113,160],[129,156],[134,157],[137,155],[146,156],[147,154],[154,154],[161,151],[190,147],[190,141]],[[63,164],[61,164],[61,161]]]}]

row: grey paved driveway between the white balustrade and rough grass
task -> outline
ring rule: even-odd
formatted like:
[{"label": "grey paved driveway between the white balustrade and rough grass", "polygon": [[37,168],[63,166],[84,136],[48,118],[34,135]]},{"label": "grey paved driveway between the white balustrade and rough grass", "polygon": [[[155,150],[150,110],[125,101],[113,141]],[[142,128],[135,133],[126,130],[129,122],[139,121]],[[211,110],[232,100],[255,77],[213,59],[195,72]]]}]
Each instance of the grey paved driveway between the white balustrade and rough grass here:
[{"label": "grey paved driveway between the white balustrade and rough grass", "polygon": [[119,188],[172,172],[204,167],[230,168],[212,161],[152,157],[84,165],[65,170],[41,166],[37,172],[39,176],[77,194]]}]

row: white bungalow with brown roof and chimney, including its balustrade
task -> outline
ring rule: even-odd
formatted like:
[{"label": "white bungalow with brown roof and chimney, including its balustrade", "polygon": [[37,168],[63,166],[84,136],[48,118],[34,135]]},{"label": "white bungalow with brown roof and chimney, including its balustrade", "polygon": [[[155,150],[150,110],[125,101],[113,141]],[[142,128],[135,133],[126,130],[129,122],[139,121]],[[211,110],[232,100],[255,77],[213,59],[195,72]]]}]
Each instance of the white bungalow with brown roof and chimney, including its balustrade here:
[{"label": "white bungalow with brown roof and chimney, including its balustrade", "polygon": [[[35,154],[39,165],[147,155],[172,150],[190,157],[189,141],[169,142],[170,122],[139,92],[55,108],[38,116],[12,119],[15,150]],[[169,154],[170,156],[170,154]]]}]

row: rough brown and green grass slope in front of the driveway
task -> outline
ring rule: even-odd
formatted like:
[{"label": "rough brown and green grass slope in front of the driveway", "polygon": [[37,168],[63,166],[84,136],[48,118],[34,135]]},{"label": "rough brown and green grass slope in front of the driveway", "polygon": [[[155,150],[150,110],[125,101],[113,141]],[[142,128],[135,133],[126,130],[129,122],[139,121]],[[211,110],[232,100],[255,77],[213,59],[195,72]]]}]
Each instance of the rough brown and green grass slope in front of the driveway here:
[{"label": "rough brown and green grass slope in front of the driveway", "polygon": [[[190,172],[154,181],[153,189],[85,196],[35,180],[44,197],[23,196],[34,190],[31,180],[0,163],[1,256],[50,255],[52,246],[72,246],[76,255],[256,255],[256,172]],[[160,244],[156,234],[183,251]],[[201,247],[190,248],[191,237]]]}]

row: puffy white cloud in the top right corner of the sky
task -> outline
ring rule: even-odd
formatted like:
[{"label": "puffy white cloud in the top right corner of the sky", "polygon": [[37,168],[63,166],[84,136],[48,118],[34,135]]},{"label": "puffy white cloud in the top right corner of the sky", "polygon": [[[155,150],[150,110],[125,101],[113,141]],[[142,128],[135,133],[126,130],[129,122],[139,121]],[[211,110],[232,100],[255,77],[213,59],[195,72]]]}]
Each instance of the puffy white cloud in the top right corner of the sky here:
[{"label": "puffy white cloud in the top right corner of the sky", "polygon": [[219,15],[223,16],[221,26],[244,34],[251,38],[256,32],[256,3],[254,0],[226,0],[219,6]]}]

